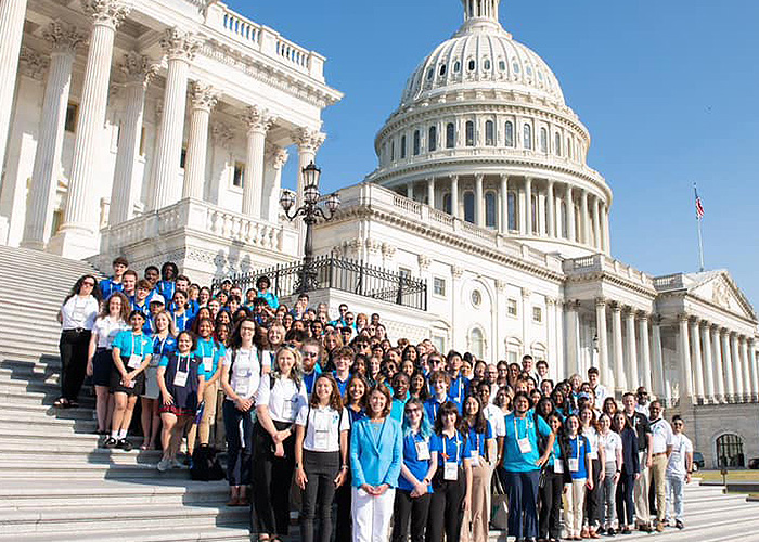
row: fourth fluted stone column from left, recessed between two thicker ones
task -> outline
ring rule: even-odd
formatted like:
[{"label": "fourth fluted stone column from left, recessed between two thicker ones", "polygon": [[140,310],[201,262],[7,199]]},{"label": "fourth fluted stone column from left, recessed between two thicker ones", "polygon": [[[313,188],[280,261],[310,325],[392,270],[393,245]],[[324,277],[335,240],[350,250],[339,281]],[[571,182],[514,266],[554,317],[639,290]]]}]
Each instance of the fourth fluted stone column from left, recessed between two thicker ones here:
[{"label": "fourth fluted stone column from left, recessed between two thicker ones", "polygon": [[145,89],[158,72],[158,66],[147,56],[137,52],[124,55],[120,66],[127,76],[125,98],[127,109],[121,122],[114,183],[111,189],[108,225],[116,225],[132,218],[134,210],[134,160],[140,152],[142,117],[145,112]]}]

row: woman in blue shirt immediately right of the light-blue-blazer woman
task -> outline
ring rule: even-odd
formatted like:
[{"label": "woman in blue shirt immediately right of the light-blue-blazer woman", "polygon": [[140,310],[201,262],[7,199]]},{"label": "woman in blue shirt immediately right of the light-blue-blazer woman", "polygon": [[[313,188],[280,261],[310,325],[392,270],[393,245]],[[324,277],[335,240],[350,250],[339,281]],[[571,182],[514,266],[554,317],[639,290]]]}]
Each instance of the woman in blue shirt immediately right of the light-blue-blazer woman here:
[{"label": "woman in blue shirt immediately right of the light-blue-blazer woman", "polygon": [[437,451],[430,448],[433,426],[419,399],[409,399],[403,410],[403,464],[393,516],[393,542],[423,542],[432,501],[432,480],[437,470]]}]

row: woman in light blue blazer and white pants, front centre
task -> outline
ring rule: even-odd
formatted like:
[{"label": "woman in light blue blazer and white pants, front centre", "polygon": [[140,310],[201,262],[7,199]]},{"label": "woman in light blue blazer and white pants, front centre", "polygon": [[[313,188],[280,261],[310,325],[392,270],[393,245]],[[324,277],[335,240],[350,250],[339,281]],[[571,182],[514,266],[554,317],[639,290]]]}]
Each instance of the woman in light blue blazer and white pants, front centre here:
[{"label": "woman in light blue blazer and white pants, front centre", "polygon": [[352,474],[353,542],[386,542],[396,487],[403,460],[403,434],[389,414],[390,390],[374,386],[369,391],[366,417],[358,421],[350,435]]}]

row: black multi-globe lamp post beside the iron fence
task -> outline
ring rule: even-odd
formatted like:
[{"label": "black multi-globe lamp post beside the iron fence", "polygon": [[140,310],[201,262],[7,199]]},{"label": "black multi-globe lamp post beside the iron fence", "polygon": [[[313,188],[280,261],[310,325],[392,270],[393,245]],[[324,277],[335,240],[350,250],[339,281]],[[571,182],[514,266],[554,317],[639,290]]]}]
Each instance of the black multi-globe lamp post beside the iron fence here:
[{"label": "black multi-globe lamp post beside the iron fence", "polygon": [[304,176],[304,203],[300,207],[293,210],[291,209],[295,205],[295,193],[286,190],[282,192],[280,197],[280,205],[285,211],[285,216],[292,221],[297,217],[303,217],[304,222],[306,222],[306,242],[304,245],[304,262],[300,268],[300,276],[298,279],[298,284],[296,285],[296,291],[298,294],[304,292],[311,292],[317,289],[317,270],[313,268],[313,241],[312,241],[312,229],[313,224],[321,217],[323,220],[332,220],[335,216],[335,211],[340,206],[340,198],[337,192],[330,194],[326,198],[326,209],[329,211],[324,212],[323,207],[319,206],[319,199],[321,198],[321,193],[319,192],[319,178],[321,177],[321,169],[319,169],[313,163],[309,164],[303,169]]}]

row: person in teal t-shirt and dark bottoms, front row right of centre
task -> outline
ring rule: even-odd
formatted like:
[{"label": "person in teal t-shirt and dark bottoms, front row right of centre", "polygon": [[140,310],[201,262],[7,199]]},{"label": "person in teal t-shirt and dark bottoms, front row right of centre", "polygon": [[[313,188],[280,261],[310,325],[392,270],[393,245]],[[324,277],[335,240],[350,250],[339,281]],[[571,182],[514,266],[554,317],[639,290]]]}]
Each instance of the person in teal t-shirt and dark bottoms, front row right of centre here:
[{"label": "person in teal t-shirt and dark bottoms, front row right of centre", "polygon": [[[519,392],[514,397],[514,412],[504,418],[503,477],[511,503],[509,534],[517,540],[538,535],[538,480],[555,439],[545,421],[529,414],[529,397]],[[539,434],[548,439],[542,455]]]}]

